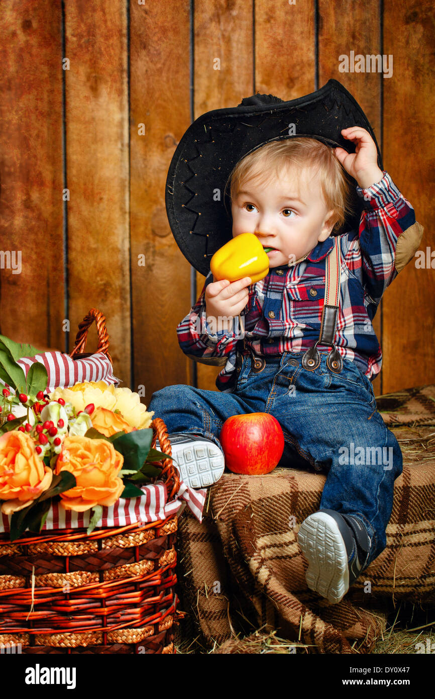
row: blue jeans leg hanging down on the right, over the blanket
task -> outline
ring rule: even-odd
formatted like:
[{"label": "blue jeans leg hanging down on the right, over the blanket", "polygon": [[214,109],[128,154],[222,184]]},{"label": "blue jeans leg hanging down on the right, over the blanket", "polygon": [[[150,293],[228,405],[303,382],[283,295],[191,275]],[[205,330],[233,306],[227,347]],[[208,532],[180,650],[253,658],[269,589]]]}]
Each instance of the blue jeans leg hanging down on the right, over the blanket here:
[{"label": "blue jeans leg hanging down on the right, over the blanket", "polygon": [[[344,360],[335,374],[325,352],[310,371],[302,367],[302,354],[288,353],[265,410],[277,417],[297,452],[326,473],[320,507],[362,520],[372,539],[369,563],[385,549],[394,482],[402,470],[399,443],[376,410],[371,382],[353,362]],[[243,394],[259,377],[242,373]]]}]

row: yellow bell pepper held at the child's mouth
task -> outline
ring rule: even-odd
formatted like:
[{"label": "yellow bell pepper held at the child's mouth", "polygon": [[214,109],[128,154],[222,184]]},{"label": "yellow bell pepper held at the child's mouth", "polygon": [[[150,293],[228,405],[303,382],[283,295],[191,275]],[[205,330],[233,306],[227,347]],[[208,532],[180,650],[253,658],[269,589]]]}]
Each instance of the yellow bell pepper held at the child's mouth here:
[{"label": "yellow bell pepper held at the child's mouth", "polygon": [[210,260],[210,269],[216,281],[251,277],[255,284],[269,273],[269,258],[260,240],[253,233],[240,233],[217,250]]}]

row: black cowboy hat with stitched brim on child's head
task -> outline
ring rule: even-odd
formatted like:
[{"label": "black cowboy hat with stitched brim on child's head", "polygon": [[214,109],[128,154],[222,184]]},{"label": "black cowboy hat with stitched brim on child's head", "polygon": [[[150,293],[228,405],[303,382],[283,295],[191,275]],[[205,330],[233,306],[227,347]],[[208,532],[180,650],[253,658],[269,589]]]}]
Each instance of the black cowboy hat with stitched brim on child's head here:
[{"label": "black cowboy hat with stitched brim on child's head", "polygon": [[[295,124],[295,133],[289,131]],[[198,272],[207,275],[210,259],[232,236],[230,201],[225,192],[239,160],[270,140],[309,136],[332,147],[355,152],[341,129],[360,126],[381,151],[369,120],[353,96],[337,80],[316,92],[284,102],[273,95],[245,97],[237,107],[202,114],[177,145],[166,180],[166,211],[179,249]],[[351,178],[352,182],[357,182]],[[362,202],[348,216],[347,230],[357,227]]]}]

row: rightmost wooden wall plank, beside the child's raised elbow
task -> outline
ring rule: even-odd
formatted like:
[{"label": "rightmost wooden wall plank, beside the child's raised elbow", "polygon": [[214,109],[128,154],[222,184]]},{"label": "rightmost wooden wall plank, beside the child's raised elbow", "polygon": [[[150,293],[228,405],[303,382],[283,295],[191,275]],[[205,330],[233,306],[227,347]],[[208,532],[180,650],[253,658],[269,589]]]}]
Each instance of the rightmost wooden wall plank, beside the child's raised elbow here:
[{"label": "rightmost wooden wall plank, beside the child's raised elbow", "polygon": [[[435,98],[429,59],[434,46],[433,3],[414,0],[398,13],[397,3],[385,0],[383,29],[383,53],[394,57],[392,78],[383,80],[385,167],[425,227],[420,250],[429,247],[433,252]],[[434,269],[416,268],[411,260],[384,298],[383,392],[433,383]]]}]

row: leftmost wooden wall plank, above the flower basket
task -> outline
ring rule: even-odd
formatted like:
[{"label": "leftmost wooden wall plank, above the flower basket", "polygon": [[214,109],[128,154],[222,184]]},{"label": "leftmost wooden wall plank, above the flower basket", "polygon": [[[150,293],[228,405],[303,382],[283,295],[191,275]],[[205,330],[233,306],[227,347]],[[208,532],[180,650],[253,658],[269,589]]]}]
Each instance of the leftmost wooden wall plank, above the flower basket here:
[{"label": "leftmost wooden wall plank, above the flower basket", "polygon": [[0,247],[17,272],[0,269],[0,332],[64,349],[58,0],[2,4],[0,64]]}]

